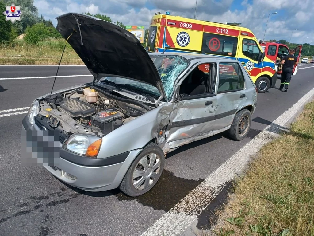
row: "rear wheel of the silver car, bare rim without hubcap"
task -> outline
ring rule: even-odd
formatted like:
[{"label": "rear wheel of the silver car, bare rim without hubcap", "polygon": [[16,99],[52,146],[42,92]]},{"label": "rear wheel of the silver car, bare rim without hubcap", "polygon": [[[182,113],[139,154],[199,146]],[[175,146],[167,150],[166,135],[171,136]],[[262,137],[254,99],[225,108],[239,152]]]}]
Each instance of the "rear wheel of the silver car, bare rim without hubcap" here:
[{"label": "rear wheel of the silver car, bare rim without hubcap", "polygon": [[249,110],[241,110],[233,119],[229,129],[229,137],[241,141],[246,137],[251,127],[251,112]]}]

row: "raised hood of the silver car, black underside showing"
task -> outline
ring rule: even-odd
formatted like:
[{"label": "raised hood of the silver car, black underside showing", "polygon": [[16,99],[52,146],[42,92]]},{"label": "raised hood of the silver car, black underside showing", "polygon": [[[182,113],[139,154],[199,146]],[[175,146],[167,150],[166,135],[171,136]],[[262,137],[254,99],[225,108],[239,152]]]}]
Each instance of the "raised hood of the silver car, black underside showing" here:
[{"label": "raised hood of the silver car, black underside showing", "polygon": [[68,43],[98,81],[112,76],[144,82],[157,87],[167,100],[156,66],[131,32],[86,14],[67,13],[56,19],[65,39],[73,33]]}]

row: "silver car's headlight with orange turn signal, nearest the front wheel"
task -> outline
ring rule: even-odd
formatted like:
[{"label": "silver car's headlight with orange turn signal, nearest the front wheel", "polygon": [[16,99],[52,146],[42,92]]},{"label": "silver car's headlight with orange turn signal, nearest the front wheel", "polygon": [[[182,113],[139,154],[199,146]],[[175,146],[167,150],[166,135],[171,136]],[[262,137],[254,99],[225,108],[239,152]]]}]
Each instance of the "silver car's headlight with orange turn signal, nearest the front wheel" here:
[{"label": "silver car's headlight with orange turn signal, nearest the front wheel", "polygon": [[74,134],[63,144],[64,149],[88,157],[98,155],[102,139],[95,135]]}]

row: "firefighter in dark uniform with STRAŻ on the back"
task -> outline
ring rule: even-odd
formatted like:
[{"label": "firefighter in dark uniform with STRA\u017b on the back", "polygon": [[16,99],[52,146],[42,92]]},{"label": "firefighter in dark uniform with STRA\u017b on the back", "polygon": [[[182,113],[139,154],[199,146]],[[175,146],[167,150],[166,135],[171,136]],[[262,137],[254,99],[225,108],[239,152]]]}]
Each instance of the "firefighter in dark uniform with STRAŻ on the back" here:
[{"label": "firefighter in dark uniform with STRA\u017b on the back", "polygon": [[281,65],[283,65],[283,67],[279,89],[282,90],[284,88],[284,92],[287,92],[294,65],[298,65],[298,58],[293,55],[294,53],[295,50],[291,49],[290,54],[284,56],[281,61]]}]

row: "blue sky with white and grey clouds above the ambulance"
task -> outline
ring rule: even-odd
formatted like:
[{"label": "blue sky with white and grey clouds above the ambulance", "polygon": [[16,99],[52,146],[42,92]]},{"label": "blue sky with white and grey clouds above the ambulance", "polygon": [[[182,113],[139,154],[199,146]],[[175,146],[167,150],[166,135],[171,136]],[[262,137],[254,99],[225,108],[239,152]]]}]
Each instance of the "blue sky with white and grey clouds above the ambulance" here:
[{"label": "blue sky with white and grey clouds above the ambulance", "polygon": [[[196,0],[35,0],[39,15],[46,20],[67,12],[100,13],[124,25],[144,25],[148,28],[151,17],[160,11],[187,18],[194,17]],[[314,41],[313,0],[198,0],[196,19],[215,22],[239,22],[252,28],[257,38],[263,39],[268,14],[265,40],[285,39],[302,43]],[[307,39],[304,39],[309,37]]]}]

